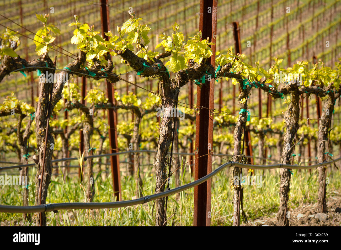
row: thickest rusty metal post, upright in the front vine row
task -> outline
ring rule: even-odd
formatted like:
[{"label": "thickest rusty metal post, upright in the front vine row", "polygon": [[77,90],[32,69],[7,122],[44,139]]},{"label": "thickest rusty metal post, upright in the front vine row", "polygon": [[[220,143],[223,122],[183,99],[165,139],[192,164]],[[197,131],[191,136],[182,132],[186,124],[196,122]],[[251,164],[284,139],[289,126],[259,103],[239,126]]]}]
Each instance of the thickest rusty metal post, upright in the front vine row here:
[{"label": "thickest rusty metal post, upright in the front vine row", "polygon": [[[200,0],[199,14],[199,30],[202,32],[203,38],[209,38],[211,42],[212,35],[212,13],[208,13],[208,8],[212,10],[213,0]],[[209,58],[207,59],[209,60]],[[209,101],[210,101],[210,83],[205,81],[205,84],[200,88],[197,87],[198,107],[206,107],[200,110],[200,115],[196,116],[195,124],[195,169],[194,180],[200,179],[207,175],[208,165],[208,126],[209,126]],[[210,194],[209,194],[210,195]],[[193,225],[205,226],[207,220],[207,181],[194,187],[194,213]]]}]

